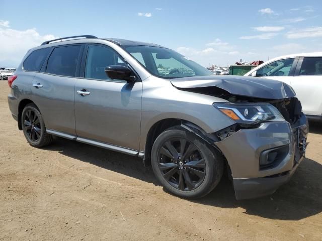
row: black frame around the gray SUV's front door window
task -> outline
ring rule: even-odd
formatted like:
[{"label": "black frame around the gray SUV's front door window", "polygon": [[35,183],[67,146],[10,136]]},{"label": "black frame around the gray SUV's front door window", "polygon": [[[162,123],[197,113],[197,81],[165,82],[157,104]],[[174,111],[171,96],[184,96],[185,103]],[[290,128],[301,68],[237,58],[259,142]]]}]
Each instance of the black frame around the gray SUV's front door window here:
[{"label": "black frame around the gray SUV's front door window", "polygon": [[138,75],[138,73],[135,71],[135,69],[126,61],[126,59],[119,54],[119,52],[117,52],[114,48],[112,48],[111,46],[105,45],[105,44],[100,44],[100,43],[86,43],[85,47],[84,47],[84,51],[83,51],[83,56],[81,57],[82,61],[80,64],[80,71],[79,71],[79,77],[78,78],[82,78],[82,79],[89,79],[89,80],[96,80],[96,81],[104,81],[104,82],[114,82],[114,83],[127,83],[128,81],[126,80],[114,80],[114,79],[95,79],[95,78],[86,78],[85,77],[85,65],[86,65],[86,59],[87,59],[87,54],[88,54],[88,49],[90,45],[96,45],[96,46],[101,46],[101,47],[105,47],[105,48],[110,48],[113,51],[115,51],[119,57],[121,58],[121,60],[126,63],[129,68],[132,70],[132,72],[134,73],[135,77],[136,77],[136,81],[135,82],[141,82],[141,78]]}]

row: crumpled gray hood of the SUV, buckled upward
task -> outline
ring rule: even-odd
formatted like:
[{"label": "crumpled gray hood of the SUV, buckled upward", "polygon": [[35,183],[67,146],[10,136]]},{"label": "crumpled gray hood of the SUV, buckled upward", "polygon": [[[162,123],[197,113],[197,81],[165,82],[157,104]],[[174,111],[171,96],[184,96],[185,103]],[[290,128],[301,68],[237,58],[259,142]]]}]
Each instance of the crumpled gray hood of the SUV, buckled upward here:
[{"label": "crumpled gray hood of the SUV, buckled upward", "polygon": [[291,86],[281,81],[249,76],[217,75],[170,79],[180,89],[215,86],[232,95],[265,99],[285,99],[296,95]]}]

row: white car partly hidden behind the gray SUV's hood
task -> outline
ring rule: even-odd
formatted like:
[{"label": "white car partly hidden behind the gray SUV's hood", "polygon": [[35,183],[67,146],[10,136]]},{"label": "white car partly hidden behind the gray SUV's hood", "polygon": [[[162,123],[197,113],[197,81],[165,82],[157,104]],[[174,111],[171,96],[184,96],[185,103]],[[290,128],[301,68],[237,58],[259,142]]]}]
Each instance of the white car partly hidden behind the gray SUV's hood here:
[{"label": "white car partly hidden behind the gray SUV's hood", "polygon": [[291,85],[306,116],[322,121],[322,52],[277,57],[245,76],[276,79]]}]

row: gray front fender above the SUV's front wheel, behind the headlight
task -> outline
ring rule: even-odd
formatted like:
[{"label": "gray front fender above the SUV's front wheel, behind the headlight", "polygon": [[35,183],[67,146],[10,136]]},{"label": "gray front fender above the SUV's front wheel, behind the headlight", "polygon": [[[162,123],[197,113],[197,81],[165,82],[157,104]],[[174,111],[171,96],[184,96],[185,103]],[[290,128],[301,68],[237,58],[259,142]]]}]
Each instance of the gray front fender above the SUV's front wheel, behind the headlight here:
[{"label": "gray front fender above the SUV's front wheel, behind the headlight", "polygon": [[225,99],[180,90],[175,88],[169,79],[155,76],[150,76],[142,83],[140,151],[144,151],[150,128],[163,119],[183,119],[199,126],[206,133],[213,133],[235,124],[212,105],[214,102],[228,102]]}]

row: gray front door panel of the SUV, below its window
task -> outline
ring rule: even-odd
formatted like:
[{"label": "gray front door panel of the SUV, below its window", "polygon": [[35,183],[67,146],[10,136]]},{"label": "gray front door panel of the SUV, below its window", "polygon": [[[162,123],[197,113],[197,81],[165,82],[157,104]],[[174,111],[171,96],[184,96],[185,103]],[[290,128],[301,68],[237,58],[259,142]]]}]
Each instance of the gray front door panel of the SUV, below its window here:
[{"label": "gray front door panel of the SUV, below its window", "polygon": [[139,149],[142,82],[78,79],[74,96],[78,137]]}]

